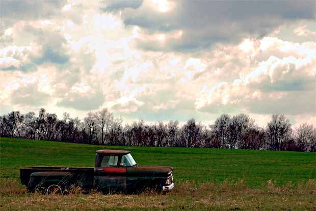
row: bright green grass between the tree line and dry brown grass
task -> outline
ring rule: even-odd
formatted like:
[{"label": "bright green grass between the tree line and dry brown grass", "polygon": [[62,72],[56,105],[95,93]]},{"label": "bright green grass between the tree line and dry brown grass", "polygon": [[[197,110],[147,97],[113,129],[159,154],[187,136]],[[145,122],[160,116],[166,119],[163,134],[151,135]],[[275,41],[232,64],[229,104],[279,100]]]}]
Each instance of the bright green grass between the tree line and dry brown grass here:
[{"label": "bright green grass between the tree line and dry brown grass", "polygon": [[243,180],[258,187],[269,180],[277,185],[315,179],[315,153],[199,148],[110,147],[17,138],[0,138],[1,177],[19,179],[30,166],[93,167],[95,151],[131,151],[140,165],[174,167],[174,181]]}]

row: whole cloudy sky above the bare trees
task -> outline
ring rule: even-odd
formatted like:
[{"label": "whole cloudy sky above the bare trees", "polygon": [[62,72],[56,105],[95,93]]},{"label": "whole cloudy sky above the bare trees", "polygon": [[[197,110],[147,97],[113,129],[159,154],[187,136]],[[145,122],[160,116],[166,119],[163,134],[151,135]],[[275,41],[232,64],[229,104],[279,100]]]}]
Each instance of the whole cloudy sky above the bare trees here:
[{"label": "whole cloudy sky above the bare trees", "polygon": [[7,1],[1,115],[316,125],[315,1]]}]

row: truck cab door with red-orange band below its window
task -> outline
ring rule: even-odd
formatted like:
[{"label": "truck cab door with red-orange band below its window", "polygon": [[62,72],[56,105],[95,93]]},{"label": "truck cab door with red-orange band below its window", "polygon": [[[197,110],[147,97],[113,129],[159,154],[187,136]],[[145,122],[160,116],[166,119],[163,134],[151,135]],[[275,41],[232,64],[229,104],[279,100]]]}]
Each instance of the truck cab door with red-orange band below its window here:
[{"label": "truck cab door with red-orange band below its window", "polygon": [[94,185],[102,192],[119,192],[126,190],[126,169],[118,167],[117,155],[102,157],[98,167],[94,169]]}]

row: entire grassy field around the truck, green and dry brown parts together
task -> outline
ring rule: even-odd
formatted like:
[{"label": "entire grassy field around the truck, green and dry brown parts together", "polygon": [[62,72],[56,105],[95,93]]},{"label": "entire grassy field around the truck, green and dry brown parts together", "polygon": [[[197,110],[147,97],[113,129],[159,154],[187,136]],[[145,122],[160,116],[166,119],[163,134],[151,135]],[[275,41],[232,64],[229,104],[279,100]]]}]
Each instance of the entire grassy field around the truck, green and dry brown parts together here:
[{"label": "entire grassy field around the truck, green and dry brown parts together", "polygon": [[[0,138],[0,142],[2,209],[316,208],[315,153],[102,147],[15,138]],[[93,167],[98,149],[129,150],[140,165],[172,166],[176,187],[164,195],[45,196],[27,193],[19,182],[20,168]]]}]

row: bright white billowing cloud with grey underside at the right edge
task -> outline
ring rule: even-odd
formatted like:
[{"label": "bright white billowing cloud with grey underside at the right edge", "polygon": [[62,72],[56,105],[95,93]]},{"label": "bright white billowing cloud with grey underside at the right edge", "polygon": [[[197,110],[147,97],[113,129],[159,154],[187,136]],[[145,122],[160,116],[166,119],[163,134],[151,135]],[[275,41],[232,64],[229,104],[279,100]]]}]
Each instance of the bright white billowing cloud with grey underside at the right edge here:
[{"label": "bright white billowing cloud with grey underside at the right edge", "polygon": [[[234,106],[252,113],[313,112],[316,107],[316,56],[311,52],[316,46],[311,42],[298,44],[272,39],[273,44],[262,48],[265,40],[267,38],[257,45],[260,50],[249,52],[252,58],[262,58],[265,51],[275,52],[281,58],[270,54],[266,61],[259,62],[253,71],[241,75],[233,83],[205,84],[196,100],[196,109],[207,112],[214,107]],[[286,57],[289,51],[296,53]]]}]

